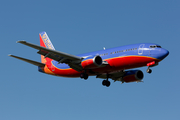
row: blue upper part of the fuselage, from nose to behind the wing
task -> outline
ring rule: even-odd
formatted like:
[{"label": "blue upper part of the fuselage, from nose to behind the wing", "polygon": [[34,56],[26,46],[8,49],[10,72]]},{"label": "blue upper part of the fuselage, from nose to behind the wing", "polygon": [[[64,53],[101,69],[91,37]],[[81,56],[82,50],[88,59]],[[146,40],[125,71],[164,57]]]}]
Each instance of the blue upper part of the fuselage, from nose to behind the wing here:
[{"label": "blue upper part of the fuselage, from nose to behind the wing", "polygon": [[[121,56],[136,55],[136,56],[152,57],[152,58],[159,59],[161,61],[168,54],[169,54],[169,51],[161,48],[161,46],[158,44],[141,43],[141,44],[132,44],[132,45],[120,46],[120,47],[110,48],[106,50],[80,54],[77,56],[84,57],[85,58],[84,60],[86,60],[86,59],[90,59],[99,55],[104,60],[104,59],[110,59],[110,58],[121,57]],[[57,61],[53,61],[52,63],[60,69],[70,68],[67,64],[57,64],[58,63]]]}]

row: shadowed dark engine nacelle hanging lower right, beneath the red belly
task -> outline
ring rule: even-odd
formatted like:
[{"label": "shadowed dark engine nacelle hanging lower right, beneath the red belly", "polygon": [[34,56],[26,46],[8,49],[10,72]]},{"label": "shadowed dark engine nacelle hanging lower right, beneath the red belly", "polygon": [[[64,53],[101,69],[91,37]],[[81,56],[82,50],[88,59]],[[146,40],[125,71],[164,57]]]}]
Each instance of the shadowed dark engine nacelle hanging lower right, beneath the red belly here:
[{"label": "shadowed dark engine nacelle hanging lower right, beneath the red belly", "polygon": [[130,70],[126,71],[125,75],[123,76],[123,81],[128,82],[138,82],[141,81],[144,77],[144,74],[141,70]]}]

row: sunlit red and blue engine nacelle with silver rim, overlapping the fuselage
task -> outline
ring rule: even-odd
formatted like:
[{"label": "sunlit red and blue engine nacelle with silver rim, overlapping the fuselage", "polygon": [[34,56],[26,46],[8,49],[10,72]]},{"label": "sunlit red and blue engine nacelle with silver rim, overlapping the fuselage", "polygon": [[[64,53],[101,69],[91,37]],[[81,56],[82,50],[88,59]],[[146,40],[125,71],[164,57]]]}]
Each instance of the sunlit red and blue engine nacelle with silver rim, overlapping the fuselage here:
[{"label": "sunlit red and blue engine nacelle with silver rim, overlapping the fuselage", "polygon": [[94,58],[86,58],[81,62],[81,66],[84,69],[97,68],[102,65],[102,58],[100,56],[95,56]]}]

